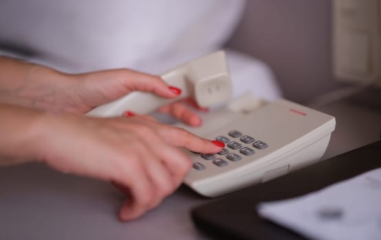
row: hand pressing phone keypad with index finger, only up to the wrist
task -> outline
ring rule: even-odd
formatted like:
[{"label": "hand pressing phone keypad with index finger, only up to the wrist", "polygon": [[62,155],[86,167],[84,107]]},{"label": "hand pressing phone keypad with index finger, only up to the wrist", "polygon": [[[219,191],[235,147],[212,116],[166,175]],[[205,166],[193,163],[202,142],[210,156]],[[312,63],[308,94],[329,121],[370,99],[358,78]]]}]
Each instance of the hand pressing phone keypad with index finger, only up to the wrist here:
[{"label": "hand pressing phone keypad with index finger, only up to the wrist", "polygon": [[217,153],[221,147],[185,130],[145,117],[50,117],[41,158],[82,176],[111,180],[129,190],[120,219],[140,217],[173,193],[192,162],[178,147]]}]

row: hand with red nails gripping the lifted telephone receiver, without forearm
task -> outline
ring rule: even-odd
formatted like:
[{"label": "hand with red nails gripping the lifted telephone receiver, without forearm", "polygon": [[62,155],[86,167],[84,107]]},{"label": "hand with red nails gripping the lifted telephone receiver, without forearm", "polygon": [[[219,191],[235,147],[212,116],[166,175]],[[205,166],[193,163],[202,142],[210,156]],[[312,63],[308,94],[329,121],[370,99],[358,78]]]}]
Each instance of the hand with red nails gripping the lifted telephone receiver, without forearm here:
[{"label": "hand with red nails gripping the lifted telephone receiver, without forearm", "polygon": [[[71,99],[79,100],[72,104],[72,106],[76,106],[73,112],[88,112],[96,106],[123,97],[132,91],[151,92],[164,98],[177,97],[181,93],[181,89],[168,86],[158,76],[128,69],[85,73],[71,77],[76,82],[74,85],[76,91],[73,92],[74,95]],[[181,99],[173,104],[163,106],[159,111],[168,113],[180,121],[188,123],[188,125],[201,125],[202,121],[199,116],[188,106],[198,110],[206,110],[205,108],[198,108],[191,99]]]}]

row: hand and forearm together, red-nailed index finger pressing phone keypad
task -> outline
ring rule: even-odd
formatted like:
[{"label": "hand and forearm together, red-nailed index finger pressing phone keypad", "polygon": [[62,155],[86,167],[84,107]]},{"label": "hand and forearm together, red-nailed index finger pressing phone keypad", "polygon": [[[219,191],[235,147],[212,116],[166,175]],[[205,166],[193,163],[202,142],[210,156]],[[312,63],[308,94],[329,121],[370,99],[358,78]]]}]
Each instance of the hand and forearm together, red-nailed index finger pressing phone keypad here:
[{"label": "hand and forearm together, red-nailed index finger pressing phone keypad", "polygon": [[56,115],[0,104],[0,160],[42,160],[58,171],[121,184],[129,198],[120,219],[140,217],[173,193],[192,162],[179,147],[217,153],[208,141],[144,116]]}]

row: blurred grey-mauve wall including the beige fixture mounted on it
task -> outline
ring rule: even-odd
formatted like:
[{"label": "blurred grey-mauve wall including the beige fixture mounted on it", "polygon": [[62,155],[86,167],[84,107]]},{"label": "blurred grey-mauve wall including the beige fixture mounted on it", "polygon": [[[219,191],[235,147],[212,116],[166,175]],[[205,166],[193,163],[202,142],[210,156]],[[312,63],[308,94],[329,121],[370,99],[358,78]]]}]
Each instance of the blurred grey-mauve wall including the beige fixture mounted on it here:
[{"label": "blurred grey-mauve wall including the beige fixture mounted on it", "polygon": [[[227,46],[269,64],[283,96],[308,104],[371,77],[381,82],[380,12],[378,0],[247,1]],[[381,84],[369,85],[351,99],[379,108]]]}]

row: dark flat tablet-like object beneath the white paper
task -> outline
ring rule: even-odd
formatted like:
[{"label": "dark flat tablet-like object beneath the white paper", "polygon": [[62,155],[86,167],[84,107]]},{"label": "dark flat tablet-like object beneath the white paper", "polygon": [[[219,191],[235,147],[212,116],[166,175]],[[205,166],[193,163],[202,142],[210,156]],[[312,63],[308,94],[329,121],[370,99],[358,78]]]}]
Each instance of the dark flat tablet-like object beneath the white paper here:
[{"label": "dark flat tablet-like object beneath the white paper", "polygon": [[298,197],[378,167],[381,167],[381,141],[231,193],[197,206],[190,213],[197,228],[213,239],[305,239],[261,219],[257,204]]}]

